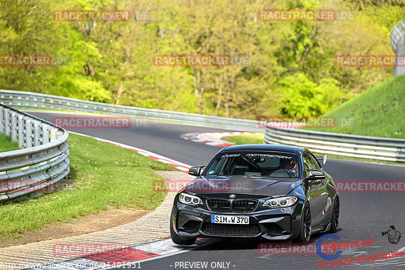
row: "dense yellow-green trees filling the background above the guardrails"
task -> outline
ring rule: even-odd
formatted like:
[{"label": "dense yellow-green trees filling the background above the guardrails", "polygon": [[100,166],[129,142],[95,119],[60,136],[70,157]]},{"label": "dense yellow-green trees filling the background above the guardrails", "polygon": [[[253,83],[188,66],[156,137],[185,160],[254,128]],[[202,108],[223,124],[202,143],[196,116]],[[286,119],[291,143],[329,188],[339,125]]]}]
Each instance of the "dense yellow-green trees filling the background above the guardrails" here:
[{"label": "dense yellow-green trees filling the background above the guardrails", "polygon": [[[319,115],[378,85],[392,68],[334,65],[335,55],[392,54],[403,0],[0,0],[0,54],[67,56],[0,67],[0,88],[256,119]],[[262,9],[352,10],[354,21],[265,22]],[[58,22],[55,10],[150,11],[151,20]],[[249,56],[246,65],[160,67],[156,54]],[[301,85],[302,84],[302,85]],[[307,107],[306,107],[307,106]]]}]

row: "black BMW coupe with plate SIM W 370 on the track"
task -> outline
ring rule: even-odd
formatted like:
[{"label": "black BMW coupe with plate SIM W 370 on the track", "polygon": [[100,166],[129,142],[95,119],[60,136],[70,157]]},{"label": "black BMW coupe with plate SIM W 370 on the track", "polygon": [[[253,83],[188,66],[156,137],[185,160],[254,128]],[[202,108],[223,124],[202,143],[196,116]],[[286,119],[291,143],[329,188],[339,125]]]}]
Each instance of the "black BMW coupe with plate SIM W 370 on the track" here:
[{"label": "black BMW coupe with plate SIM W 370 on the track", "polygon": [[[322,164],[325,164],[326,156]],[[308,242],[335,233],[339,194],[332,177],[306,148],[234,145],[220,150],[175,197],[172,240],[258,238]]]}]

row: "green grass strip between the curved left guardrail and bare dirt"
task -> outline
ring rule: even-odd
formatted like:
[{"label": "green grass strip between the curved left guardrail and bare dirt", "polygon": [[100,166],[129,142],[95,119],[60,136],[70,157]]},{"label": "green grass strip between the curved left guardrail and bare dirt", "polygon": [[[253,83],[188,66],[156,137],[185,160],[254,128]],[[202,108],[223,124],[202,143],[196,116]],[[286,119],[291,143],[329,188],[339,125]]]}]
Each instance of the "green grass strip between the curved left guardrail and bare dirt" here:
[{"label": "green grass strip between the curved left guardrail and bare dirt", "polygon": [[175,168],[137,152],[70,134],[70,174],[60,190],[36,199],[0,206],[0,240],[55,221],[95,214],[108,207],[153,210],[166,192],[152,190],[162,180],[154,170]]}]

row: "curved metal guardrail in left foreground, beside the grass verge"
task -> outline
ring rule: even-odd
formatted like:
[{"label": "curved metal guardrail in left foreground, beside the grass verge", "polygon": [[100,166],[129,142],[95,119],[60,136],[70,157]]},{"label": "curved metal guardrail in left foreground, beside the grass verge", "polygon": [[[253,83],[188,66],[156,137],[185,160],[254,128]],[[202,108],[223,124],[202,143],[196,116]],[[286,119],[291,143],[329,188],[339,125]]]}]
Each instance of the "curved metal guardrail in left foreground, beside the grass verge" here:
[{"label": "curved metal guardrail in left foreground, beside the grass verge", "polygon": [[23,148],[0,153],[0,204],[52,192],[68,175],[66,130],[0,105],[0,133]]}]

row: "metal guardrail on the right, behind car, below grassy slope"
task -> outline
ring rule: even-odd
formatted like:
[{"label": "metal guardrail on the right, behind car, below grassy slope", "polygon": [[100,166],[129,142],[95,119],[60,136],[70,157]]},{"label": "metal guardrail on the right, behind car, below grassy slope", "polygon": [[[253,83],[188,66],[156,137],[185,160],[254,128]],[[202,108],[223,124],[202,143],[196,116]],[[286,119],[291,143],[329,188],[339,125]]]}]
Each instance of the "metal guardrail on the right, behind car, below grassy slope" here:
[{"label": "metal guardrail on the right, behind car, below grassy slope", "polygon": [[343,157],[405,162],[405,139],[266,128],[264,142],[297,145],[314,152]]}]

